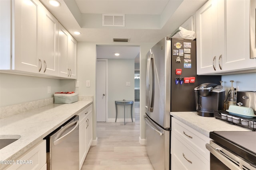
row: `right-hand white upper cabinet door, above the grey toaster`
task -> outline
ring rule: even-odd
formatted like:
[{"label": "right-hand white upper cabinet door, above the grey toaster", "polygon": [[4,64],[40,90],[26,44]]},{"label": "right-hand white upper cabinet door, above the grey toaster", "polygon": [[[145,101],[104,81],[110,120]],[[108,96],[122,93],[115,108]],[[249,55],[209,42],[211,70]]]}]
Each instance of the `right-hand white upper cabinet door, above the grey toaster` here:
[{"label": "right-hand white upper cabinet door, above the grey toaster", "polygon": [[256,68],[250,59],[250,1],[222,0],[226,6],[226,57],[225,71]]}]

